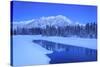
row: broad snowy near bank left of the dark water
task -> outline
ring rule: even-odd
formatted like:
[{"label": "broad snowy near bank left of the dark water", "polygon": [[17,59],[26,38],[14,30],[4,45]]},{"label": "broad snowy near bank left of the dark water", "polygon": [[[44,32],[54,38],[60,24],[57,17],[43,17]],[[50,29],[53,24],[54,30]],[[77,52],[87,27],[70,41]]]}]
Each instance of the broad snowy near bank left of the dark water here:
[{"label": "broad snowy near bank left of the dark water", "polygon": [[51,53],[32,42],[31,36],[13,36],[13,65],[49,64]]}]

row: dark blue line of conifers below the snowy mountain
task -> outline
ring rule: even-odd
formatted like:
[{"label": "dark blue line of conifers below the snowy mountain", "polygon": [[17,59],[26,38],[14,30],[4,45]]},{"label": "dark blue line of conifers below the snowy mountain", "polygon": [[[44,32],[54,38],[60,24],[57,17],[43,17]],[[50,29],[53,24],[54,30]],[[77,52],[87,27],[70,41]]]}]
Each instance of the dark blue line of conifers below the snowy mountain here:
[{"label": "dark blue line of conifers below the snowy mountain", "polygon": [[85,38],[97,38],[97,24],[68,25],[64,27],[46,26],[46,28],[19,28],[11,30],[12,35],[43,35],[43,36],[77,36]]}]

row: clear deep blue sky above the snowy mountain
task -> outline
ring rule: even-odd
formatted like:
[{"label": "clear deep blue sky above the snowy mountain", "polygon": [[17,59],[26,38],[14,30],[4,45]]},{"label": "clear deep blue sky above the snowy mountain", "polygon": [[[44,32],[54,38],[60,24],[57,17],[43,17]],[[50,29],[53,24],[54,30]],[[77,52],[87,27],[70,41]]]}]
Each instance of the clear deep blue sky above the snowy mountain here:
[{"label": "clear deep blue sky above the snowy mountain", "polygon": [[72,4],[50,4],[39,2],[13,1],[11,3],[12,20],[26,21],[42,16],[64,15],[80,23],[97,21],[97,7]]}]

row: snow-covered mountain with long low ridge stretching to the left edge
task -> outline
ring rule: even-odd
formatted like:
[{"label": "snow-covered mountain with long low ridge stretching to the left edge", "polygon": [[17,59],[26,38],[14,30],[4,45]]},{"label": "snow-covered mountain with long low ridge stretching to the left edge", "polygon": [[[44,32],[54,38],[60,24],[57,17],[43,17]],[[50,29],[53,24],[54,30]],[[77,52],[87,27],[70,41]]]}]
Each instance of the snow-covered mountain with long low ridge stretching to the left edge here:
[{"label": "snow-covered mountain with long low ridge stretching to the left edge", "polygon": [[76,25],[69,18],[63,15],[40,17],[28,21],[13,22],[13,29],[19,28],[46,28],[46,26],[64,27],[67,25]]}]

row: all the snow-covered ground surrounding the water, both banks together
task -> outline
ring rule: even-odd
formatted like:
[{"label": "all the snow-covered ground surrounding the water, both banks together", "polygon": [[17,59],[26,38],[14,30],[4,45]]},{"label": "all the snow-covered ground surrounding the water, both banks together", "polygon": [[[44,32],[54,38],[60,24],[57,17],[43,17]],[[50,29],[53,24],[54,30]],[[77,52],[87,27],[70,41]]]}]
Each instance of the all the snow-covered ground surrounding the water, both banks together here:
[{"label": "all the snow-covered ground surrounding the water, both banks together", "polygon": [[69,44],[73,46],[97,49],[96,39],[77,38],[77,37],[57,37],[41,35],[14,35],[13,36],[13,65],[37,65],[49,64],[50,58],[46,54],[52,53],[33,40],[46,40],[56,43]]}]

